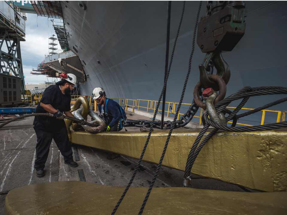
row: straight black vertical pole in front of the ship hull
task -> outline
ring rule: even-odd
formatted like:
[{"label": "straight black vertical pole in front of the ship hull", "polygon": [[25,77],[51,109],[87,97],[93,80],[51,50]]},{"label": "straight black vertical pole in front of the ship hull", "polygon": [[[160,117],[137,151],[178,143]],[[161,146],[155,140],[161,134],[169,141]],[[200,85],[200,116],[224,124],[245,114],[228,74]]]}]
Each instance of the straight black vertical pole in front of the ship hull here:
[{"label": "straight black vertical pole in front of the ship hull", "polygon": [[[171,1],[167,1],[167,44],[165,50],[165,70],[164,70],[164,82],[167,78],[167,69],[168,69],[168,54],[170,49],[170,8]],[[165,109],[165,96],[167,89],[164,89],[164,95],[162,98],[162,111],[161,111],[161,129],[164,129],[164,109]]]}]

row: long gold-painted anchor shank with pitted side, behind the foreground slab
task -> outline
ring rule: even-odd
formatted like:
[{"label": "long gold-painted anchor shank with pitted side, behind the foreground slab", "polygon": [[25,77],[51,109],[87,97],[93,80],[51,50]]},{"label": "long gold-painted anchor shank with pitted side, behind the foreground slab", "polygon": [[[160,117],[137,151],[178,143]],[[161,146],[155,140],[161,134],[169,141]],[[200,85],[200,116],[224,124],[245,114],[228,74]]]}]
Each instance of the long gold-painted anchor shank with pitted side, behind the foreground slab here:
[{"label": "long gold-painted anchor shank with pitted side, behind the foreground slab", "polygon": [[[144,161],[159,162],[168,132],[152,132]],[[163,165],[184,171],[199,132],[200,129],[175,129]],[[71,142],[138,159],[147,135],[140,131],[77,131],[71,133]],[[287,191],[287,130],[218,132],[202,148],[191,172],[260,191]]]}]

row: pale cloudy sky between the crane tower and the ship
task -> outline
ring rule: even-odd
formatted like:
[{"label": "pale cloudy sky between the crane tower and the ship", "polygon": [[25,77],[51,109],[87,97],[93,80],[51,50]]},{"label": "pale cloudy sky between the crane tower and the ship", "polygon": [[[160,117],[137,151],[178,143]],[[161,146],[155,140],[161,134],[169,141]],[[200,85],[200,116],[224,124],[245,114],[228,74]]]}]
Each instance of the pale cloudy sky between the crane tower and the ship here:
[{"label": "pale cloudy sky between the crane tower and the ship", "polygon": [[[52,81],[52,78],[48,78],[45,75],[30,74],[32,67],[37,67],[45,59],[45,54],[49,52],[48,35],[55,34],[53,23],[50,20],[51,18],[37,17],[37,14],[28,13],[28,19],[25,24],[26,41],[20,42],[26,85]],[[54,21],[62,22],[60,19],[54,19]],[[59,45],[58,48],[60,48]]]}]

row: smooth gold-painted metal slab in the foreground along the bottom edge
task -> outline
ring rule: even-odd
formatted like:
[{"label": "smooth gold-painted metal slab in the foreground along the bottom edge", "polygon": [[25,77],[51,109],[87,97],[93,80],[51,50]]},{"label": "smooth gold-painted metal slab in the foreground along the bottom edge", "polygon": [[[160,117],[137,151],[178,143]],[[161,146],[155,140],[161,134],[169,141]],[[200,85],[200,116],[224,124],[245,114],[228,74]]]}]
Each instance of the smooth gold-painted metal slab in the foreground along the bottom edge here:
[{"label": "smooth gold-painted metal slab in the foreground along the bottom edge", "polygon": [[[124,187],[62,181],[15,188],[5,214],[111,214]],[[116,214],[138,214],[148,188],[131,187]],[[143,214],[286,214],[287,192],[248,193],[153,188]]]}]

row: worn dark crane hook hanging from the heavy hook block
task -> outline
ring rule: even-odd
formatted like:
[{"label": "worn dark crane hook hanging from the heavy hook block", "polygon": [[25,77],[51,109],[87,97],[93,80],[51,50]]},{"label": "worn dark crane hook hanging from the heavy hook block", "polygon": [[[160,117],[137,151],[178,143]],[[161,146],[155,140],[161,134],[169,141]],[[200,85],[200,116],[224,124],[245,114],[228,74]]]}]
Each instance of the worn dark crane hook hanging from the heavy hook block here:
[{"label": "worn dark crane hook hanging from the heavy hook block", "polygon": [[[225,60],[222,58],[221,52],[216,52],[214,54],[212,62],[217,70],[216,75],[221,77],[225,81],[225,84],[227,84],[230,79],[230,68],[228,64],[225,62]],[[213,90],[219,91],[218,84],[208,77],[207,70],[205,69],[205,67],[202,64],[199,64],[198,67],[200,73],[199,80],[202,87],[204,89],[211,87],[213,88]]]}]

